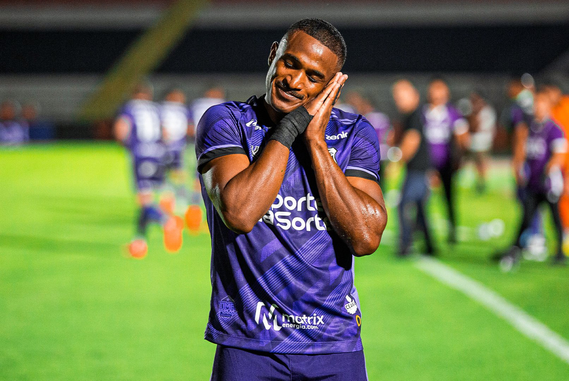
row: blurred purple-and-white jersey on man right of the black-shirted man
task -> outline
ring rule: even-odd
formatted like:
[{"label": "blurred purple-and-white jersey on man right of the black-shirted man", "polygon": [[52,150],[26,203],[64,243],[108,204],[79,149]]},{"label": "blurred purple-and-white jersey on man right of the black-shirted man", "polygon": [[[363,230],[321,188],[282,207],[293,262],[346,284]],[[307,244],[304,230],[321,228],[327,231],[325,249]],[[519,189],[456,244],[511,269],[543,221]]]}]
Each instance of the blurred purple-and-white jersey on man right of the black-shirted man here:
[{"label": "blurred purple-and-white jersey on man right of the black-shirted man", "polygon": [[431,160],[435,168],[442,168],[451,158],[452,134],[466,132],[468,122],[459,110],[450,104],[429,109],[423,107],[424,133],[429,145]]}]

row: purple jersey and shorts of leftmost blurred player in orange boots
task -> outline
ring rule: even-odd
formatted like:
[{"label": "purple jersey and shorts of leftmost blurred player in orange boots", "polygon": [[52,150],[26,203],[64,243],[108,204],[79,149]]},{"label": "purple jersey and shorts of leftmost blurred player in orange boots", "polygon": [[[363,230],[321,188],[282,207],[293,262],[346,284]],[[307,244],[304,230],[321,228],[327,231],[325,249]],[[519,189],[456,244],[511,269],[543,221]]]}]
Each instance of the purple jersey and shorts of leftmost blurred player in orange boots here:
[{"label": "purple jersey and shorts of leftmost blurred player in orange boots", "polygon": [[165,153],[158,106],[147,100],[131,100],[123,106],[119,117],[130,125],[125,144],[133,158],[137,188],[156,188],[163,181]]}]

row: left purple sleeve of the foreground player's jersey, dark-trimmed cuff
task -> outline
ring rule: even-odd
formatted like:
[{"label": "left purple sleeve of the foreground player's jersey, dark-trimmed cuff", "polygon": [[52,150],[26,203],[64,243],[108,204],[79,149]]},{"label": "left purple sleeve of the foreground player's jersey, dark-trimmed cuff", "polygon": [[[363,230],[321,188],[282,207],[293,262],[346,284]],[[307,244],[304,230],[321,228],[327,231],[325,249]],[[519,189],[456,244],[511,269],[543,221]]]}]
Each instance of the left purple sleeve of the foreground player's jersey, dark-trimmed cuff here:
[{"label": "left purple sleeve of the foreground player's jersey, dark-trimmed cuff", "polygon": [[220,104],[210,107],[200,118],[196,129],[197,170],[212,159],[231,155],[244,154],[241,132],[238,124],[238,109]]}]

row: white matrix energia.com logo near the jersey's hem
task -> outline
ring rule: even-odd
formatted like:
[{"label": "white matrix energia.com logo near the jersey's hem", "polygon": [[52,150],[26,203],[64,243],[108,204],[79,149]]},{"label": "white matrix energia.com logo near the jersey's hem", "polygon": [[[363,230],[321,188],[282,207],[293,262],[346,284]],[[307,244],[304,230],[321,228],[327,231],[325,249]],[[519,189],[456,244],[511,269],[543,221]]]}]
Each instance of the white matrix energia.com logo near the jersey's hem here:
[{"label": "white matrix energia.com logo near the jersey's hem", "polygon": [[[278,315],[281,316],[280,319]],[[273,319],[272,324],[271,319]],[[257,302],[255,322],[259,325],[262,322],[266,330],[270,330],[272,328],[275,331],[281,330],[282,327],[292,329],[320,329],[320,326],[324,325],[324,315],[317,315],[316,313],[308,316],[306,314],[303,314],[302,316],[281,314],[277,305],[271,304],[269,306],[269,304]]]}]

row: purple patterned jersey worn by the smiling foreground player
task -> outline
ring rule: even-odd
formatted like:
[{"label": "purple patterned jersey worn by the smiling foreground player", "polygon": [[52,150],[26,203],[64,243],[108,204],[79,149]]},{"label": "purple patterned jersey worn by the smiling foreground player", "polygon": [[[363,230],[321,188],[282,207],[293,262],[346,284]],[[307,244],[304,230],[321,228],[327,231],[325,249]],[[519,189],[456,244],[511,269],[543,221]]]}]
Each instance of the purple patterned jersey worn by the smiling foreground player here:
[{"label": "purple patterned jersey worn by the smiling foreground player", "polygon": [[[255,161],[273,126],[255,96],[209,108],[197,126],[199,169],[228,154]],[[325,140],[345,175],[378,181],[379,143],[364,117],[333,109]],[[292,145],[277,199],[250,233],[225,226],[200,181],[212,236],[205,339],[284,354],[361,350],[353,257],[330,227],[303,142]]]}]

